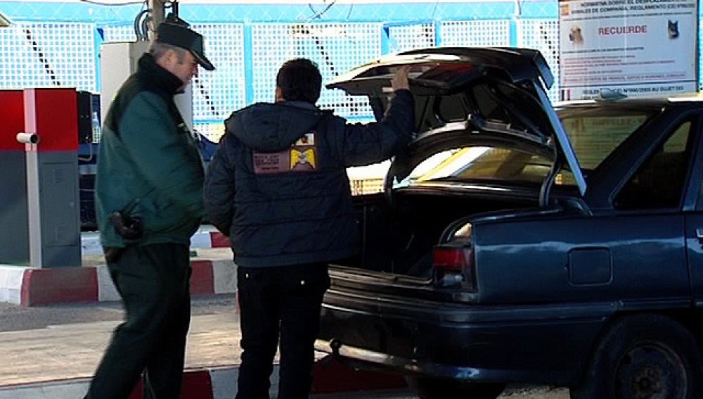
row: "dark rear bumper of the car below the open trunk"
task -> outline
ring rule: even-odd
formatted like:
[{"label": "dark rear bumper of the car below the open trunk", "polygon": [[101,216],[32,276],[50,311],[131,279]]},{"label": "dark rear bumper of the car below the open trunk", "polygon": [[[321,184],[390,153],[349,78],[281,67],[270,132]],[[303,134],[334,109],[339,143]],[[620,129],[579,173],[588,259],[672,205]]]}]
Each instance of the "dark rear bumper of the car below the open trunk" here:
[{"label": "dark rear bumper of the car below the open trunk", "polygon": [[572,384],[612,304],[477,306],[329,291],[316,349],[361,367]]}]

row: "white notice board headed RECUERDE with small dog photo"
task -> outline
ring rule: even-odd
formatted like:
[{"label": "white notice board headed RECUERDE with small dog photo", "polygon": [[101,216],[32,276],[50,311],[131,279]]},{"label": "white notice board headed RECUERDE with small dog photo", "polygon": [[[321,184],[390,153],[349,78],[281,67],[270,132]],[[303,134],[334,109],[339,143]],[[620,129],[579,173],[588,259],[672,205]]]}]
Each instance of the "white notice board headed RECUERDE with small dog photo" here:
[{"label": "white notice board headed RECUERDE with small dog photo", "polygon": [[559,0],[560,99],[697,91],[697,0]]}]

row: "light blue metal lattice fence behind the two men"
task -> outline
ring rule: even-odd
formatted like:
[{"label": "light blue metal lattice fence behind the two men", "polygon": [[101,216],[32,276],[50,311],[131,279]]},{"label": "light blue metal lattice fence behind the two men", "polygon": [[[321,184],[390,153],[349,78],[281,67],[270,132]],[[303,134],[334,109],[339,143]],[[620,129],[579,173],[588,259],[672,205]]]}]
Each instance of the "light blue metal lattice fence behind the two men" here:
[{"label": "light blue metal lattice fence behind the two men", "polygon": [[[0,30],[0,89],[61,85],[99,92],[99,46],[135,40],[134,20],[143,9],[140,4],[0,1],[0,11],[15,21]],[[216,139],[233,110],[273,101],[276,71],[294,57],[316,61],[328,81],[384,53],[520,46],[542,51],[558,82],[557,11],[554,0],[183,4],[181,17],[206,37],[206,51],[217,66],[193,84],[195,127]],[[553,100],[557,85],[549,93]],[[341,91],[323,90],[318,104],[351,119],[371,115],[364,99]]]}]

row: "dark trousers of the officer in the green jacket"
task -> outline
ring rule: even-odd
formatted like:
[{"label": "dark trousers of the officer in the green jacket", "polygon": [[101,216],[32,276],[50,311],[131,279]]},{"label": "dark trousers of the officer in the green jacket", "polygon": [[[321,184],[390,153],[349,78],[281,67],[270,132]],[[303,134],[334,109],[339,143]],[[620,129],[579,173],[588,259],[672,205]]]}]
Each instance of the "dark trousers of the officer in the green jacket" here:
[{"label": "dark trousers of the officer in the green jacket", "polygon": [[130,246],[108,268],[125,321],[113,332],[86,398],[127,398],[142,373],[145,399],[178,398],[191,322],[188,246]]}]

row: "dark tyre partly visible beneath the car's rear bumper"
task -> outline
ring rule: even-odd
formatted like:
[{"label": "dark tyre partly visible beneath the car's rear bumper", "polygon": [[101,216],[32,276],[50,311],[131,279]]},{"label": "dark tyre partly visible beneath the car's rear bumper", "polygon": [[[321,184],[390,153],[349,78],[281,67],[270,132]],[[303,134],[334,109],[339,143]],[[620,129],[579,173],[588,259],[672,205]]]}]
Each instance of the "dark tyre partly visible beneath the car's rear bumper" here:
[{"label": "dark tyre partly visible beneath the car's rear bumper", "polygon": [[420,399],[496,399],[505,391],[505,384],[467,382],[432,377],[407,377],[408,386]]}]

